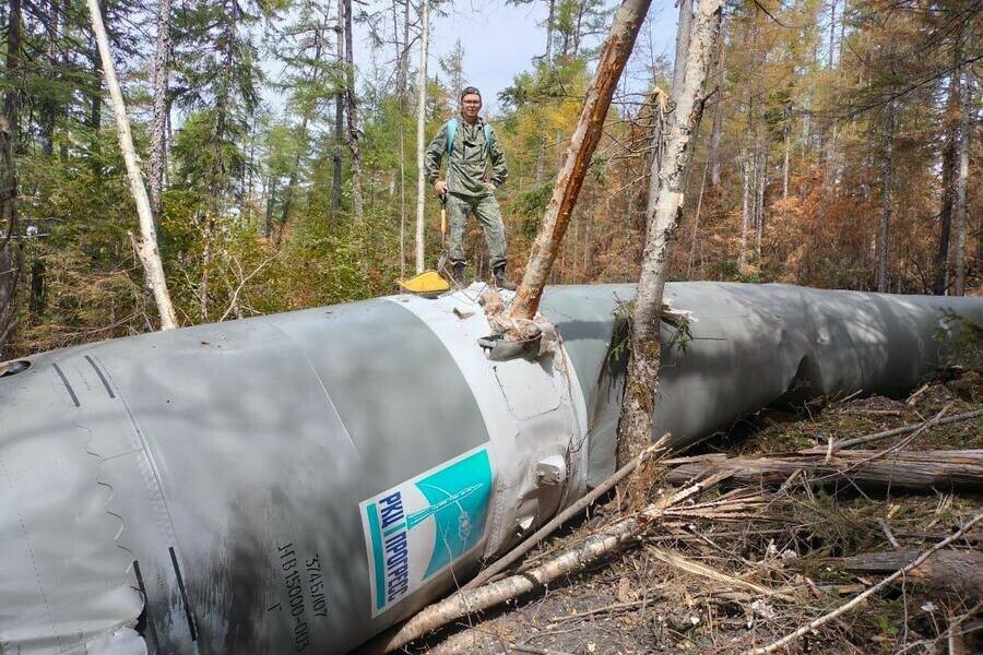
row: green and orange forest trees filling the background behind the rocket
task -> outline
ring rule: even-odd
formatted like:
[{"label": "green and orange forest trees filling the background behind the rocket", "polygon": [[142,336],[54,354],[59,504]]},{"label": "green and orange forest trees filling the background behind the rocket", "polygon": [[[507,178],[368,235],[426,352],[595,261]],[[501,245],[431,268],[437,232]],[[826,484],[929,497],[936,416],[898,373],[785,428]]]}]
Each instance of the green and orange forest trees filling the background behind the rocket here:
[{"label": "green and orange forest trees filling the background behind the rocket", "polygon": [[[14,1],[0,9],[5,32]],[[418,16],[405,1],[355,9],[377,53],[375,64],[354,61],[360,222],[353,211],[351,136],[336,129],[348,70],[337,43],[336,3],[175,3],[158,223],[182,324],[382,295],[412,267],[416,76],[410,70],[415,58],[404,55],[416,48]],[[543,24],[549,56],[516,71],[490,117],[511,169],[499,199],[519,275],[613,3],[510,3],[541,13],[553,8],[552,23]],[[0,62],[14,64],[0,79],[0,94],[4,108],[14,103],[17,109],[13,237],[23,246],[11,306],[17,321],[0,344],[0,359],[156,324],[133,252],[135,211],[111,114],[103,105],[84,3],[37,0],[20,11],[20,51],[10,51],[9,39],[0,44]],[[156,5],[109,0],[104,12],[137,147],[146,160]],[[650,20],[667,20],[665,13]],[[439,28],[439,4],[434,20]],[[940,233],[955,202],[958,167],[951,162],[963,107],[970,108],[974,136],[979,124],[973,62],[980,27],[979,3],[970,0],[732,2],[686,183],[672,277],[873,289],[881,199],[890,184],[888,289],[932,293],[938,277],[941,290],[952,293],[957,239],[943,245]],[[481,86],[469,78],[469,48],[462,38],[436,53],[428,134],[453,115],[463,85]],[[555,283],[638,278],[649,144],[665,97],[652,90],[667,90],[671,68],[637,50]],[[262,100],[274,96],[276,103]],[[889,108],[892,178],[884,179]],[[966,275],[972,290],[983,265],[983,212],[974,183],[979,156],[972,156],[979,140],[971,139],[970,147]],[[950,163],[944,165],[947,152]],[[428,204],[428,261],[440,248],[436,207]],[[0,241],[8,229],[0,223]],[[955,235],[955,223],[951,229]],[[474,273],[488,276],[477,228],[469,233],[467,248]]]}]

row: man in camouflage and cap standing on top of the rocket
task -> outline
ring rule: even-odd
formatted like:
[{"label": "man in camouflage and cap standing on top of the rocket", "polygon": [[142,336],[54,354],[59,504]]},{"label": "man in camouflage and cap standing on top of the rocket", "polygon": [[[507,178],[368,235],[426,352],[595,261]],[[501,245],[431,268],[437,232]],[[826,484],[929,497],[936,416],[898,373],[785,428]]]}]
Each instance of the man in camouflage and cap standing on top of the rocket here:
[{"label": "man in camouflage and cap standing on top of the rocket", "polygon": [[[464,229],[467,214],[473,213],[485,230],[485,241],[492,257],[495,285],[514,290],[516,285],[506,278],[506,236],[495,190],[509,176],[505,154],[492,126],[478,111],[482,93],[474,86],[461,92],[461,115],[440,128],[427,146],[427,181],[434,184],[438,195],[447,200],[450,222],[450,259],[454,266],[454,282],[464,284]],[[440,162],[447,156],[447,180],[440,177]],[[487,165],[492,163],[492,179],[486,180]]]}]

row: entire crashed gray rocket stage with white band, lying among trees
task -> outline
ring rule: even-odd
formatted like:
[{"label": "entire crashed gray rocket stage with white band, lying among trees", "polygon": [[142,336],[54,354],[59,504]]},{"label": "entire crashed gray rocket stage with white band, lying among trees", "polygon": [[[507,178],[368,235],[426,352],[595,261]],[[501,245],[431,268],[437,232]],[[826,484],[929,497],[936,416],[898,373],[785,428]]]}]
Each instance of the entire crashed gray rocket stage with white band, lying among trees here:
[{"label": "entire crashed gray rocket stage with white band, lying among trees", "polygon": [[[354,647],[614,469],[631,295],[548,289],[562,347],[538,362],[485,359],[474,288],[31,358],[0,378],[0,652]],[[910,388],[941,309],[983,321],[980,299],[667,296],[696,318],[660,385],[677,444],[791,393]]]}]

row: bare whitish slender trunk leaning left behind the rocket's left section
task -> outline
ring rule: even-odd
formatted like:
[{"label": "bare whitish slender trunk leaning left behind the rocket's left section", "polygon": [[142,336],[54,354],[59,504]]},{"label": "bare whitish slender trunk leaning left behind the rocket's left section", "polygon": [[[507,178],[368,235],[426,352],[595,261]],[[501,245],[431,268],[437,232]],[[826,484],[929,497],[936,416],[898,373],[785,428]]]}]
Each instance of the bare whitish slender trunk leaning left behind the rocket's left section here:
[{"label": "bare whitish slender trunk leaning left behind the rocket's left section", "polygon": [[143,264],[144,283],[154,295],[157,311],[161,314],[161,329],[171,330],[178,326],[174,305],[170,302],[170,294],[167,291],[167,279],[164,277],[164,265],[161,263],[161,253],[157,250],[157,229],[154,226],[154,215],[151,211],[150,199],[143,187],[143,176],[140,174],[140,163],[137,151],[133,150],[133,138],[130,135],[130,121],[127,119],[127,107],[123,104],[122,90],[116,79],[116,69],[112,66],[112,55],[109,52],[109,38],[106,27],[103,25],[103,15],[99,12],[98,0],[86,0],[88,13],[92,17],[92,31],[95,34],[99,47],[99,56],[103,60],[103,72],[106,76],[106,85],[109,86],[109,96],[112,98],[112,109],[116,114],[116,132],[119,136],[119,147],[122,151],[127,165],[127,176],[130,178],[130,191],[137,202],[137,214],[140,216],[140,241],[137,254]]}]

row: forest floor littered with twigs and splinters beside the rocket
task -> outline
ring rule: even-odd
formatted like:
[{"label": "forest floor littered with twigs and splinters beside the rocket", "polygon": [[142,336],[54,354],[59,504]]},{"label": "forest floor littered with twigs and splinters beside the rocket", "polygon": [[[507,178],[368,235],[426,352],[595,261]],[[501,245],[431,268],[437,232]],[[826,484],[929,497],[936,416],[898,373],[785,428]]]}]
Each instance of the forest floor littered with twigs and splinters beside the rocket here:
[{"label": "forest floor littered with twigs and splinters beside the rocket", "polygon": [[[952,416],[983,405],[983,377],[935,381],[908,398],[825,400],[767,409],[692,453],[787,453]],[[908,436],[910,437],[910,434]],[[905,437],[867,444],[883,451]],[[926,429],[909,450],[983,449],[983,419]],[[720,520],[655,523],[644,536],[589,570],[472,616],[417,643],[413,653],[744,653],[794,632],[850,602],[889,571],[852,573],[834,558],[924,550],[983,511],[983,496],[927,489],[819,488],[793,475],[780,488],[732,485],[700,499],[744,498],[758,510]],[[666,487],[646,480],[649,500]],[[736,496],[735,496],[736,495]],[[627,493],[530,551],[521,567],[558,555],[626,515]],[[893,541],[893,545],[892,545]],[[983,523],[943,552],[980,556]],[[909,560],[910,561],[910,560]],[[929,560],[931,561],[931,560]],[[983,652],[980,569],[966,590],[931,573],[903,576],[852,611],[796,640],[785,653]]]}]

